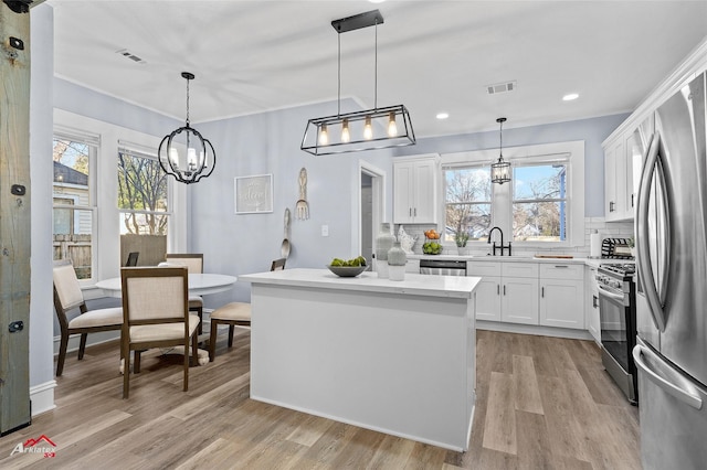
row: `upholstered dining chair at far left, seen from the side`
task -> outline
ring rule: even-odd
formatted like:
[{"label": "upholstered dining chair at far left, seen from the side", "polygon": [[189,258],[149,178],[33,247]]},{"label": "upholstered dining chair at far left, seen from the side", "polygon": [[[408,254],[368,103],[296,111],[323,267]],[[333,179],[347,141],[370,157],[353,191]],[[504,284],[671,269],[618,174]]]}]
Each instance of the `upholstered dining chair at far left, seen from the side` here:
[{"label": "upholstered dining chair at far left, seen from the side", "polygon": [[[123,324],[123,308],[113,307],[88,310],[84,301],[78,278],[71,260],[54,261],[52,270],[54,279],[54,310],[59,319],[61,340],[59,343],[59,357],[56,360],[56,376],[64,372],[68,338],[72,334],[81,334],[78,344],[78,360],[84,357],[86,350],[86,337],[98,331],[120,330]],[[78,309],[80,314],[68,319],[68,313]]]}]

